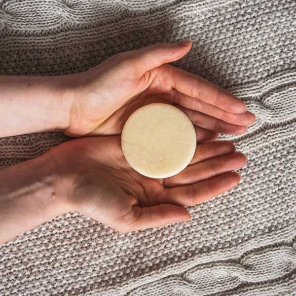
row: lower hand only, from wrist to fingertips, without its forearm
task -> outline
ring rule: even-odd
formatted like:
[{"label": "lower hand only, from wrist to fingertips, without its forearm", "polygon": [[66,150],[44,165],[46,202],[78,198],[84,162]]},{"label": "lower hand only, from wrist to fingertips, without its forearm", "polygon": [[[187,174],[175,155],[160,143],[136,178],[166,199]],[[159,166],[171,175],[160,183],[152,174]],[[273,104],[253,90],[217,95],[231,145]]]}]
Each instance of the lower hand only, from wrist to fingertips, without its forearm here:
[{"label": "lower hand only, from wrist to fingertips, without its forearm", "polygon": [[[66,204],[120,232],[188,221],[183,208],[204,202],[240,181],[231,172],[246,163],[230,142],[198,145],[190,165],[166,179],[137,173],[124,158],[120,136],[72,140],[49,151],[59,180],[68,180]],[[70,181],[71,180],[71,181]],[[65,189],[66,188],[66,189]],[[65,204],[65,202],[64,202]]]}]

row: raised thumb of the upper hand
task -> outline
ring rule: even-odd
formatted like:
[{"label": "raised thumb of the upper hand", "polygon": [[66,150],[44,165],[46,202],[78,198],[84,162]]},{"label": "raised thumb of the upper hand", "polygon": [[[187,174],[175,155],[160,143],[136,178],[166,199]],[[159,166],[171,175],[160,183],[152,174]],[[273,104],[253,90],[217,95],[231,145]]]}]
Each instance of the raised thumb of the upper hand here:
[{"label": "raised thumb of the upper hand", "polygon": [[156,43],[136,50],[122,52],[118,57],[120,65],[134,71],[135,78],[162,64],[177,61],[191,49],[192,41],[183,40],[177,43]]}]

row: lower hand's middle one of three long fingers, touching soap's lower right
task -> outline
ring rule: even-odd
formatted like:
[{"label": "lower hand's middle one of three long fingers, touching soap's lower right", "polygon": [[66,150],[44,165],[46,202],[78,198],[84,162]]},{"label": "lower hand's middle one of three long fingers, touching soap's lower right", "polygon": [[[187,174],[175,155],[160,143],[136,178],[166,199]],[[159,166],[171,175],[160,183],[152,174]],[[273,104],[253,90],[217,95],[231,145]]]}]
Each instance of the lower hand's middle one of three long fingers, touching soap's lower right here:
[{"label": "lower hand's middle one of three long fingers, touching soap's lower right", "polygon": [[224,156],[211,158],[187,166],[179,174],[164,180],[165,187],[174,187],[180,185],[194,184],[217,175],[228,173],[242,168],[247,162],[243,153],[237,152]]}]

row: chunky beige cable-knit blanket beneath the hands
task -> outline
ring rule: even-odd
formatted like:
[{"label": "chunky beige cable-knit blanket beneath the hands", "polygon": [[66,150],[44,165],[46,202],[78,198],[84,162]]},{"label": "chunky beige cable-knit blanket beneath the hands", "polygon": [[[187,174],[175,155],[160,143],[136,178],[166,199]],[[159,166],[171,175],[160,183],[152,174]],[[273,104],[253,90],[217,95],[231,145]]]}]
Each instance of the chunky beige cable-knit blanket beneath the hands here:
[{"label": "chunky beige cable-knit blanket beneath the hands", "polygon": [[[78,73],[182,39],[193,47],[172,64],[257,115],[245,135],[219,138],[248,156],[241,183],[161,228],[46,222],[0,246],[1,296],[296,295],[295,0],[0,0],[0,74]],[[2,138],[0,168],[67,140]]]}]

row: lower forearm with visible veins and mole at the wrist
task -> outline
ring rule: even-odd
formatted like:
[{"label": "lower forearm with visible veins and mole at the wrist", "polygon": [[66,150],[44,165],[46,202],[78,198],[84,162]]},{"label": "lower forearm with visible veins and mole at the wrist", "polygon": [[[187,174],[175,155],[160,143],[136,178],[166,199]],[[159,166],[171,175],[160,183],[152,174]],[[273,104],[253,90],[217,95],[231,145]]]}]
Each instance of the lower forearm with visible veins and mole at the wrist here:
[{"label": "lower forearm with visible veins and mole at the wrist", "polygon": [[0,171],[0,244],[67,213],[63,182],[47,153]]}]

